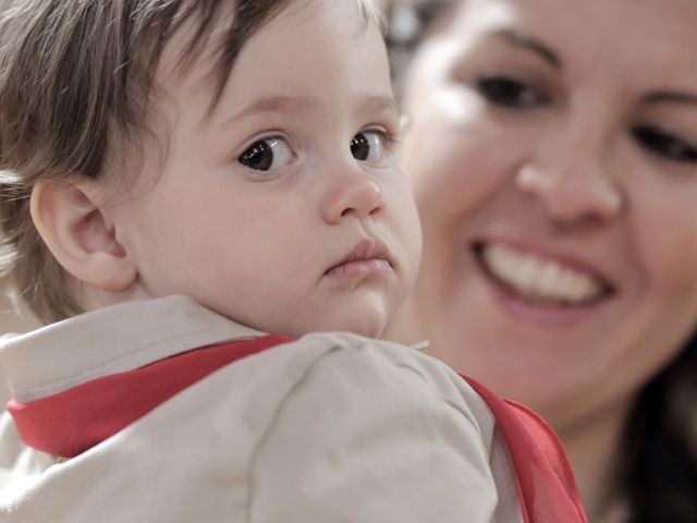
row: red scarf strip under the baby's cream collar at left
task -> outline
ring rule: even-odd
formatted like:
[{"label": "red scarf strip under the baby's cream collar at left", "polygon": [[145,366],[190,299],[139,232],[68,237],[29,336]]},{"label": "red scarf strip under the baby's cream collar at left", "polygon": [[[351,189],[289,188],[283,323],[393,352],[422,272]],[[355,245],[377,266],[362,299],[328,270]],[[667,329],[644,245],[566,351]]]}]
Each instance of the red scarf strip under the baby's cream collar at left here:
[{"label": "red scarf strip under the baby's cream collar at left", "polygon": [[10,400],[8,411],[25,443],[74,458],[222,366],[288,341],[265,336],[198,349],[39,400]]}]

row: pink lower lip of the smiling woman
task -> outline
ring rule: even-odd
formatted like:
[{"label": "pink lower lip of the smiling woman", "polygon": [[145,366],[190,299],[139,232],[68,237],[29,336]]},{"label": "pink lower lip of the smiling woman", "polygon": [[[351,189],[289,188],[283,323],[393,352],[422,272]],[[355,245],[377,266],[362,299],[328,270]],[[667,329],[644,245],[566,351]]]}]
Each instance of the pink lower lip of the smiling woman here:
[{"label": "pink lower lip of the smiling woman", "polygon": [[568,327],[596,314],[599,308],[606,306],[612,299],[612,296],[609,295],[591,303],[579,305],[536,303],[531,300],[526,300],[493,278],[482,266],[481,260],[477,259],[475,266],[480,280],[484,281],[485,287],[492,295],[497,305],[508,315],[528,324],[551,328]]}]

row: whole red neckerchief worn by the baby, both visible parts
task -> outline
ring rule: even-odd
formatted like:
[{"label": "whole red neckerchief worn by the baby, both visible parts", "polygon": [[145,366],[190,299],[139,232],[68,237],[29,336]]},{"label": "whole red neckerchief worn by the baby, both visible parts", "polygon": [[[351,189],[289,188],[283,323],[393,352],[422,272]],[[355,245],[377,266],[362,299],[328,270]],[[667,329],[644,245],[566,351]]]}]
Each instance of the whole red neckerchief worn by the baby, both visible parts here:
[{"label": "whole red neckerchief worn by the baby, both visible parts", "polygon": [[[10,400],[8,411],[26,445],[73,458],[224,365],[288,341],[293,340],[266,336],[197,349],[39,400]],[[517,474],[525,523],[586,523],[571,467],[552,429],[528,409],[463,378],[501,427]]]}]

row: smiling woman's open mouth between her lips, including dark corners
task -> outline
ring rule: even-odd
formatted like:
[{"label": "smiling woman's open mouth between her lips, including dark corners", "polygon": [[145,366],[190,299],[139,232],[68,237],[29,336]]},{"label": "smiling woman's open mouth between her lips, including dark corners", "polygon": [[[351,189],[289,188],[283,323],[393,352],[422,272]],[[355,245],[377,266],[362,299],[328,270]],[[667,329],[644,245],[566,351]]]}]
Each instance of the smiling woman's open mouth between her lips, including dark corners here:
[{"label": "smiling woman's open mouth between her lips, including dark corners", "polygon": [[490,278],[535,305],[577,307],[615,292],[608,282],[589,271],[502,243],[479,242],[473,245],[473,251]]}]

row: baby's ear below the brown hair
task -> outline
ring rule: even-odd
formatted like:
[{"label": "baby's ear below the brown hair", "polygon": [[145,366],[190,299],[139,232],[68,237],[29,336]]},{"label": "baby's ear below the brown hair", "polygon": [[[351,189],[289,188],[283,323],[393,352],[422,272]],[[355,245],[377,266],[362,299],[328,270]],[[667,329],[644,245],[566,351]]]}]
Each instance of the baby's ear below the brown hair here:
[{"label": "baby's ear below the brown hair", "polygon": [[32,219],[68,272],[103,291],[126,291],[137,268],[97,204],[96,188],[90,180],[40,182],[32,192]]}]

